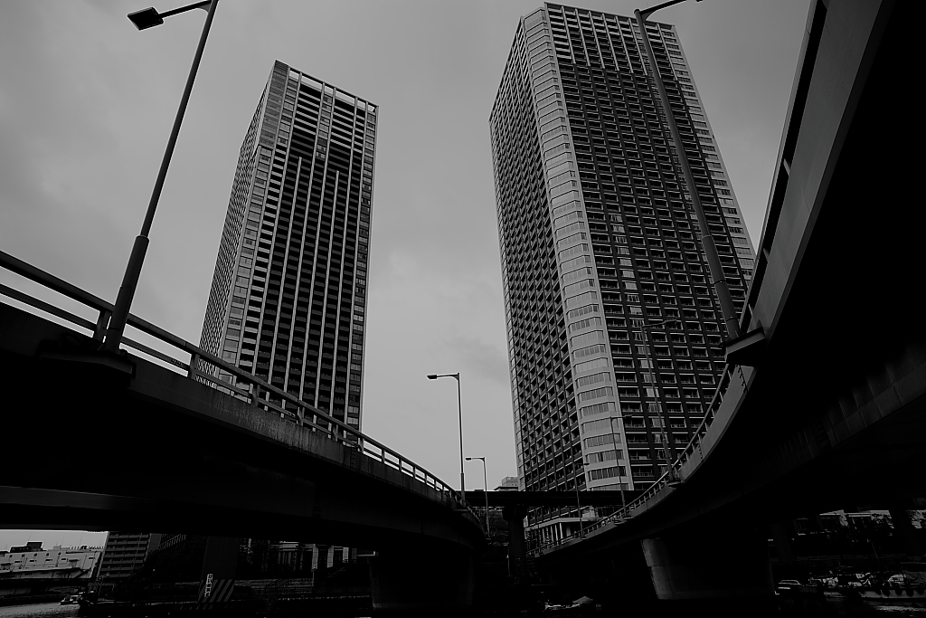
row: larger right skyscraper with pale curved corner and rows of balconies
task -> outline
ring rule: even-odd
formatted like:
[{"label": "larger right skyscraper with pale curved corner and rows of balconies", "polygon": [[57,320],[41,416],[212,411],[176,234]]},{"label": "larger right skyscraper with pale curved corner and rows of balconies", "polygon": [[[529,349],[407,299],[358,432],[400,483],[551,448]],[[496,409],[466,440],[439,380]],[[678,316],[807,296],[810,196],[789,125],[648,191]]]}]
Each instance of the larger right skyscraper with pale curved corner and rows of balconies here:
[{"label": "larger right skyscraper with pale curved corner and rows of balconies", "polygon": [[[675,28],[647,30],[742,310],[751,241]],[[703,419],[724,329],[635,20],[521,19],[490,128],[520,486],[645,487]]]}]

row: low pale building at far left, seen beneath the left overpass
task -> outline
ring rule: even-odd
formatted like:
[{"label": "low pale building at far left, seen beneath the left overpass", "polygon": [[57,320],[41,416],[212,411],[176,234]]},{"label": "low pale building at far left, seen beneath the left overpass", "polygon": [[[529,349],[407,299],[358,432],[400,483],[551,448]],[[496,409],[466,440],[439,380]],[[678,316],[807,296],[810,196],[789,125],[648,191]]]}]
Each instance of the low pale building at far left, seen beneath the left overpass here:
[{"label": "low pale building at far left, seen beneath the left overpass", "polygon": [[41,542],[30,542],[9,551],[0,551],[0,578],[10,579],[93,579],[103,554],[102,548],[42,549]]}]

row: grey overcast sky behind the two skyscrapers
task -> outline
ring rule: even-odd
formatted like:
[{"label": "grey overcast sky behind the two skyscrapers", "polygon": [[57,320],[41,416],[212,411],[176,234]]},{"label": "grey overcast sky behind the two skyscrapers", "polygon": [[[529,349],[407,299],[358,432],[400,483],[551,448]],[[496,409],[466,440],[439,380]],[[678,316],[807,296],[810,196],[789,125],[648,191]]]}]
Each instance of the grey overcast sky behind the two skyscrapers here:
[{"label": "grey overcast sky behind the two skyscrapers", "polygon": [[[125,16],[145,4],[0,3],[0,248],[110,300],[206,17],[137,32]],[[132,311],[199,342],[239,148],[280,59],[381,106],[363,431],[457,486],[456,385],[425,375],[461,372],[467,455],[488,458],[490,486],[515,474],[488,117],[518,19],[539,4],[221,0]],[[754,245],[807,6],[658,14],[678,26]],[[482,488],[478,461],[466,473]],[[0,549],[19,536],[0,533]]]}]

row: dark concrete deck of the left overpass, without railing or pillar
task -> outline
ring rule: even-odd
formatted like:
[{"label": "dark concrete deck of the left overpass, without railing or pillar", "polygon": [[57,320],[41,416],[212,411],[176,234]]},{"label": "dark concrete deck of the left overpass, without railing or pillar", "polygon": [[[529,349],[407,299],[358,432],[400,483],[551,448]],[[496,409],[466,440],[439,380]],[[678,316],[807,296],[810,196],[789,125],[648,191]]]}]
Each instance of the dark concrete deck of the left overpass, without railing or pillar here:
[{"label": "dark concrete deck of the left overpass, without railing or pillar", "polygon": [[148,360],[127,356],[124,376],[84,362],[92,344],[0,305],[5,407],[18,417],[0,526],[482,543],[445,487]]}]

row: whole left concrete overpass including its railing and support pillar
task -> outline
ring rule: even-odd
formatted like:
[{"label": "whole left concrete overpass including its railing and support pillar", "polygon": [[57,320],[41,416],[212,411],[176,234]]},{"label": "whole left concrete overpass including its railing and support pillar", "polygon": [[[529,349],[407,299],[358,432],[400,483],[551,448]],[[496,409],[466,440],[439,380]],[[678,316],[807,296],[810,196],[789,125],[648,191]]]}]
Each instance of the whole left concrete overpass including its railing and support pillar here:
[{"label": "whole left concrete overpass including its railing and support pillar", "polygon": [[[6,254],[0,265],[100,312],[94,323],[0,287],[89,331],[0,303],[0,527],[288,536],[377,549],[377,607],[471,602],[482,526],[440,479],[134,316],[136,329],[191,359],[131,339],[149,359],[98,352],[108,303]],[[234,383],[212,377],[208,364]]]}]

